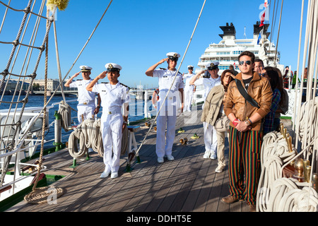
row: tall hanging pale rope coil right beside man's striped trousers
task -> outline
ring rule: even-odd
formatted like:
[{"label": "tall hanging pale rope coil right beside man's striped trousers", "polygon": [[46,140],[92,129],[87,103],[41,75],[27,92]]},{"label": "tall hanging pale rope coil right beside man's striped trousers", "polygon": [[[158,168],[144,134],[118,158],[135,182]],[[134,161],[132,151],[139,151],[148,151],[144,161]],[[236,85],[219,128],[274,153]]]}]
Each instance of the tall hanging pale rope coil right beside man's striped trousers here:
[{"label": "tall hanging pale rope coil right beside man's striped trousers", "polygon": [[281,178],[281,169],[285,162],[295,156],[289,152],[288,143],[281,133],[276,131],[267,133],[261,145],[261,175],[257,190],[257,210],[269,211],[269,196],[273,183]]}]

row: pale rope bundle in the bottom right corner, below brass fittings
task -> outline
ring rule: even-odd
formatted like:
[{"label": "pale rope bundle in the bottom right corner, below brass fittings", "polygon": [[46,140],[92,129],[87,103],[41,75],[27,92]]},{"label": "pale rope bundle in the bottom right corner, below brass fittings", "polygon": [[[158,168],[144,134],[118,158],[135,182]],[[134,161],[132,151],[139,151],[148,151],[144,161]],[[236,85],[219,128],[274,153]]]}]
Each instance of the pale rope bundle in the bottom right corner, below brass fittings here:
[{"label": "pale rope bundle in the bottom right corner, below brass fittings", "polygon": [[[269,197],[271,212],[316,212],[317,191],[293,178],[276,179]],[[300,189],[303,187],[302,189]]]}]

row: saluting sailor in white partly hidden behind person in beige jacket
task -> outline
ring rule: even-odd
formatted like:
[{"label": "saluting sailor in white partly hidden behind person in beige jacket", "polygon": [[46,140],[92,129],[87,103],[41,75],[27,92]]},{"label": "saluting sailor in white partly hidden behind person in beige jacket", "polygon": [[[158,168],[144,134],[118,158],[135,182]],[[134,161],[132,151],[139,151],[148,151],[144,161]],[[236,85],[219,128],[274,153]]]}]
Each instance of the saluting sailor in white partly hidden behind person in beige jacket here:
[{"label": "saluting sailor in white partly hidden behind person in beige jacket", "polygon": [[[190,81],[192,85],[204,85],[204,100],[208,96],[211,88],[216,85],[220,85],[220,76],[218,76],[218,61],[212,61],[206,64],[205,71],[200,71],[196,74]],[[201,76],[201,74],[204,74]],[[203,106],[202,106],[203,108]],[[204,153],[204,158],[216,159],[216,147],[218,145],[216,138],[216,129],[211,124],[206,122],[203,123],[204,126],[204,144],[206,147],[206,152]]]}]

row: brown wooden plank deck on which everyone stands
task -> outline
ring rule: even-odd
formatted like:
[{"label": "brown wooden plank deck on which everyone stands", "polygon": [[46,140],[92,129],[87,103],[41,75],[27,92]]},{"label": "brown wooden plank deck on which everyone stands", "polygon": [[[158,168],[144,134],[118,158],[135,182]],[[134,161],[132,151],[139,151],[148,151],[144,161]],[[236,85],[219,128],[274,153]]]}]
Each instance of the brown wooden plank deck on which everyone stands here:
[{"label": "brown wooden plank deck on which everyone stands", "polygon": [[[134,163],[126,172],[126,155],[122,156],[119,177],[100,179],[104,169],[102,157],[90,153],[90,160],[78,160],[74,169],[68,150],[45,156],[45,174],[64,175],[51,186],[63,188],[57,204],[30,204],[22,201],[8,212],[248,212],[245,202],[231,205],[220,202],[228,195],[228,167],[216,173],[217,160],[204,160],[204,133],[201,107],[197,116],[184,113],[177,118],[174,161],[160,164],[155,155],[155,131],[151,131],[139,154],[141,163]],[[283,119],[285,126],[289,120]],[[143,127],[144,124],[141,124]],[[179,128],[184,133],[177,133]],[[135,133],[137,143],[148,129]],[[200,138],[191,137],[196,133]],[[187,145],[179,143],[188,138]],[[225,141],[228,160],[228,138]],[[34,160],[33,160],[34,162]]]}]

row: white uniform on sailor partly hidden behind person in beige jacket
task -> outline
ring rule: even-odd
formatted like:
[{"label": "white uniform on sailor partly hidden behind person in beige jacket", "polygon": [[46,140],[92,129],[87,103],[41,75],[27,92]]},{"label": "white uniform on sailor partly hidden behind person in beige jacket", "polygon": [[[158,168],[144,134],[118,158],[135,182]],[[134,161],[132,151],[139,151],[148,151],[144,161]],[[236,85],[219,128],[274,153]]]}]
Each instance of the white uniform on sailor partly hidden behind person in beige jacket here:
[{"label": "white uniform on sailor partly hidden behind person in beige jacket", "polygon": [[[199,78],[194,82],[194,85],[204,85],[204,101],[208,96],[211,88],[216,85],[220,85],[220,76],[218,78]],[[203,108],[203,106],[202,106]],[[216,129],[211,124],[206,122],[203,123],[204,126],[204,144],[206,147],[205,155],[216,155],[216,147],[218,145],[216,137]]]}]

